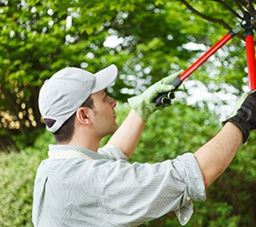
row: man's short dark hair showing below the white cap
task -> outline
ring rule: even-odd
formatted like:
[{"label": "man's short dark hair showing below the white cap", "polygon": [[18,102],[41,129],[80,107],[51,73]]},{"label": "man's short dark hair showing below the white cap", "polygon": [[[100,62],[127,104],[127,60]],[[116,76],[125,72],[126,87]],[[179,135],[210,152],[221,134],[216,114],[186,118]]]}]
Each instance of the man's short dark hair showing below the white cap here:
[{"label": "man's short dark hair showing below the white cap", "polygon": [[[93,109],[94,103],[92,97],[89,96],[89,98],[87,98],[87,100],[84,103],[82,103],[81,107]],[[72,139],[74,134],[74,119],[75,113],[66,120],[66,122],[60,127],[60,129],[58,129],[57,132],[53,133],[53,136],[57,144],[68,143]],[[44,119],[44,123],[47,127],[51,127],[55,122],[56,120],[53,119]]]}]

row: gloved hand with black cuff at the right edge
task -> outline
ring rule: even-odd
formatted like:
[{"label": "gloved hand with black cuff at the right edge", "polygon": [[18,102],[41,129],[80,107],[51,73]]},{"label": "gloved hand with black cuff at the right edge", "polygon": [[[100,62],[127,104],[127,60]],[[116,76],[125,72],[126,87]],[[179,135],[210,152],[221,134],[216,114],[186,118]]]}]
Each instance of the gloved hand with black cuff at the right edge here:
[{"label": "gloved hand with black cuff at the right edge", "polygon": [[236,102],[235,111],[225,120],[231,122],[243,132],[243,144],[246,142],[250,131],[256,129],[256,90],[244,93]]}]

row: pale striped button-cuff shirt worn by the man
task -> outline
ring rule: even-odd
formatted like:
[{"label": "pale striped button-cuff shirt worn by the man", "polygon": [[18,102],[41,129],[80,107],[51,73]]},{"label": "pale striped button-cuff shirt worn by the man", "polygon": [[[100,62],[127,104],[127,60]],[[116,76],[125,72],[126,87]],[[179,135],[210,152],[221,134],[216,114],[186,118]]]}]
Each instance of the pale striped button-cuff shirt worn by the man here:
[{"label": "pale striped button-cuff shirt worn by the man", "polygon": [[193,201],[205,200],[202,173],[192,153],[156,164],[129,164],[116,147],[98,152],[50,145],[49,152],[80,157],[46,159],[34,182],[32,222],[36,227],[136,226],[174,211],[182,225]]}]

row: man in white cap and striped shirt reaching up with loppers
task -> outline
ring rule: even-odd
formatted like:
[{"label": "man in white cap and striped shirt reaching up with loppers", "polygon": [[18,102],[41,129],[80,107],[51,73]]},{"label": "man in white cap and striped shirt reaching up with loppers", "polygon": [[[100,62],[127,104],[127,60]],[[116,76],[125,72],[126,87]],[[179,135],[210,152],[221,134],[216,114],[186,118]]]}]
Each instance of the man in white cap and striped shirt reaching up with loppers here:
[{"label": "man in white cap and striped shirt reaching up with loppers", "polygon": [[147,119],[163,108],[156,108],[154,99],[174,90],[178,75],[130,98],[132,110],[118,129],[116,101],[106,94],[117,76],[114,65],[96,74],[65,68],[44,83],[39,110],[57,145],[49,146],[49,159],[38,168],[34,226],[135,226],[170,211],[182,225],[189,221],[192,202],[205,200],[205,188],[255,129],[256,93],[245,94],[223,129],[194,154],[154,165],[129,164]]}]

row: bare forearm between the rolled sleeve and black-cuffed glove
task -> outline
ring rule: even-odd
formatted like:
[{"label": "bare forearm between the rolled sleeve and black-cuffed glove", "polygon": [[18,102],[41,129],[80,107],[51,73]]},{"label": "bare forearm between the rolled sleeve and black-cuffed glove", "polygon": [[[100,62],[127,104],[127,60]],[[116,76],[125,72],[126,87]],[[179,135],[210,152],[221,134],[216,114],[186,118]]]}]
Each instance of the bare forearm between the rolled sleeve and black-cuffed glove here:
[{"label": "bare forearm between the rolled sleeve and black-cuffed glove", "polygon": [[215,181],[229,166],[236,154],[243,133],[232,123],[226,123],[223,129],[204,146],[195,152],[203,174],[205,188]]}]

